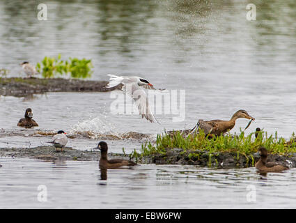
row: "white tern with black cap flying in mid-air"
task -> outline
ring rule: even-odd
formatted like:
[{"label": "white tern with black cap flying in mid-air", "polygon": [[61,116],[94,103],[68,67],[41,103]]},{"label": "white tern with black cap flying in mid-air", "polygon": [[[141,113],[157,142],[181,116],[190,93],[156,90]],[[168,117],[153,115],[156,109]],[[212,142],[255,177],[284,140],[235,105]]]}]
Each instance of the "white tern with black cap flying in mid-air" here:
[{"label": "white tern with black cap flying in mid-air", "polygon": [[[109,84],[106,88],[112,88],[118,84],[123,84],[123,93],[130,95],[139,109],[142,118],[145,117],[151,123],[159,123],[153,113],[150,111],[148,97],[146,91],[143,89],[153,89],[152,84],[148,80],[141,77],[123,77],[116,75],[108,75],[110,77]],[[142,88],[143,87],[143,88]]]}]

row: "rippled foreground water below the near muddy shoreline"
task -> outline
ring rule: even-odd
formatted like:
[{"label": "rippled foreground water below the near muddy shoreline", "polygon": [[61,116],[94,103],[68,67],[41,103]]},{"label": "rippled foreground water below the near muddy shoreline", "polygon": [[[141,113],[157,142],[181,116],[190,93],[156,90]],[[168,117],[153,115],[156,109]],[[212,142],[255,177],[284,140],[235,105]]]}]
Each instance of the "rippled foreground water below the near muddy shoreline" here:
[{"label": "rippled foreground water below the near muddy shoreline", "polygon": [[[0,208],[296,208],[295,169],[261,177],[255,168],[153,164],[109,170],[101,180],[98,162],[0,163]],[[39,185],[46,202],[38,201]],[[247,187],[256,202],[247,200]]]}]

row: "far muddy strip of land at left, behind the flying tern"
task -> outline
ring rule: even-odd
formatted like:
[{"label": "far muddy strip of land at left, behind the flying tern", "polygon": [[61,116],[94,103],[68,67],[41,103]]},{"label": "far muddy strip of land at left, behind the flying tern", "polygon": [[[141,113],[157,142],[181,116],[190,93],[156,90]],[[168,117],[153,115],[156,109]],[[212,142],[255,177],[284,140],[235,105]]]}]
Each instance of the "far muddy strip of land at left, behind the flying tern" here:
[{"label": "far muddy strip of land at left, behind the flying tern", "polygon": [[41,78],[0,78],[0,95],[26,97],[46,92],[104,92],[116,88],[105,89],[107,81],[85,81],[81,79],[41,79]]}]

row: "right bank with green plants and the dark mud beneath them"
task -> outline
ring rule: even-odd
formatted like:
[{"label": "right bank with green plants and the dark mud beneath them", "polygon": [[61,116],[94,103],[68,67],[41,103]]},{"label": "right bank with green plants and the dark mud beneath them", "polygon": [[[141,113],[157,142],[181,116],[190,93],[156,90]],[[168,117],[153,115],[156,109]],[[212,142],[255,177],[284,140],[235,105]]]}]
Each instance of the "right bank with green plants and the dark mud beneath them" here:
[{"label": "right bank with green plants and the dark mud beneath them", "polygon": [[141,153],[134,151],[130,156],[140,162],[159,164],[251,167],[259,158],[254,153],[260,146],[267,148],[271,160],[279,161],[282,155],[296,155],[294,134],[289,140],[278,137],[276,133],[268,135],[267,132],[259,132],[256,139],[254,133],[245,135],[244,132],[208,139],[203,132],[188,137],[176,132],[173,136],[157,135],[155,142],[148,141],[142,145]]}]

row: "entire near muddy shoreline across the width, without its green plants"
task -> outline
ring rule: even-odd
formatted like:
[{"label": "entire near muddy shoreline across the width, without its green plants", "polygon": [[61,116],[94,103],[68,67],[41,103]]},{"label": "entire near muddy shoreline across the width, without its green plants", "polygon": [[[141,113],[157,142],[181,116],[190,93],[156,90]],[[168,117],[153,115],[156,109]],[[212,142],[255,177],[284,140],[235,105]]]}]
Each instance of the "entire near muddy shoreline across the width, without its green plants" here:
[{"label": "entire near muddy shoreline across the width, without its green plants", "polygon": [[[100,151],[81,151],[65,147],[63,152],[56,152],[54,146],[37,146],[34,148],[0,148],[0,157],[29,157],[47,161],[98,161]],[[242,155],[233,152],[208,153],[207,151],[183,151],[180,148],[167,149],[166,154],[153,154],[141,158],[123,153],[108,153],[109,159],[123,158],[138,164],[180,164],[197,167],[215,167],[220,169],[254,167],[260,156]],[[268,162],[279,162],[290,168],[296,167],[296,153],[287,155],[269,154]]]}]

